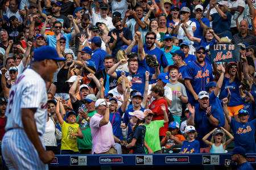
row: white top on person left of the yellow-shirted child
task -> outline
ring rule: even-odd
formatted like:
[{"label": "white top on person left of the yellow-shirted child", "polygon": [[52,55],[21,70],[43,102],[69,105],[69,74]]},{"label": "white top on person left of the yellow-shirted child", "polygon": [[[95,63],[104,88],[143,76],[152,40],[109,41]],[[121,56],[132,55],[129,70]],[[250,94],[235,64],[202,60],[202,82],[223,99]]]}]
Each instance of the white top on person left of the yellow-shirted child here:
[{"label": "white top on person left of the yellow-shirted child", "polygon": [[44,146],[57,146],[55,138],[55,124],[49,117],[49,121],[46,122],[46,131],[42,135]]}]

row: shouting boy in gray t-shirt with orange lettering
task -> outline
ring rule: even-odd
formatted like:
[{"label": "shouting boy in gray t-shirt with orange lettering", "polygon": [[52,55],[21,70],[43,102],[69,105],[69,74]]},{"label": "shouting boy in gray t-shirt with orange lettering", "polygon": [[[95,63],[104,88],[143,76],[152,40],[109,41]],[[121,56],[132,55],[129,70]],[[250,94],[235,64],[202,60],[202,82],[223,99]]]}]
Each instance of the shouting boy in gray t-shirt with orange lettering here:
[{"label": "shouting boy in gray t-shirt with orange lettering", "polygon": [[182,104],[188,102],[185,86],[178,82],[179,68],[175,65],[169,66],[170,83],[166,86],[172,90],[172,104],[168,110],[172,113],[174,120],[180,125],[180,117],[182,113]]}]

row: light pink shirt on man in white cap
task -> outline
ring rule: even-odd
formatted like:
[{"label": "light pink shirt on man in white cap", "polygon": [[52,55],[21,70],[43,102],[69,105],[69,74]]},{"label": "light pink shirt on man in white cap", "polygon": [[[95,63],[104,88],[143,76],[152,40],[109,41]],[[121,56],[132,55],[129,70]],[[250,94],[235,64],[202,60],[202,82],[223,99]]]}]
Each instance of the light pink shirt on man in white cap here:
[{"label": "light pink shirt on man in white cap", "polygon": [[104,126],[99,126],[103,118],[98,113],[90,118],[90,131],[92,132],[92,154],[101,154],[115,146],[112,125],[110,122]]}]

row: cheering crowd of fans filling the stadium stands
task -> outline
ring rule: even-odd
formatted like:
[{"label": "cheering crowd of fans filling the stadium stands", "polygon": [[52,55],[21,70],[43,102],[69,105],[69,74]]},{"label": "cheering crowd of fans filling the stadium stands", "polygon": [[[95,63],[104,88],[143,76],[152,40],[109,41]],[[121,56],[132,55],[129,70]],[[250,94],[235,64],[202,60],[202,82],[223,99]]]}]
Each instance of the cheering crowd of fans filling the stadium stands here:
[{"label": "cheering crowd of fans filling the stadium stands", "polygon": [[[48,84],[47,150],[255,153],[255,9],[250,0],[3,0],[0,139],[10,87],[48,45],[66,60]],[[239,61],[211,62],[217,44],[240,45]]]}]

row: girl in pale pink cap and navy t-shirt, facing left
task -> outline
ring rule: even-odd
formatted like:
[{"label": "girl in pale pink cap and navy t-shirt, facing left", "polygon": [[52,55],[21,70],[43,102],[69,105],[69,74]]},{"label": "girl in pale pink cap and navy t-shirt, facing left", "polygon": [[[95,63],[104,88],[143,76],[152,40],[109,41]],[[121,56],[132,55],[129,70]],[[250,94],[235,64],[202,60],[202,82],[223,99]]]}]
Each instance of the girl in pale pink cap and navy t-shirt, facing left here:
[{"label": "girl in pale pink cap and navy t-shirt, facing left", "polygon": [[132,148],[133,154],[145,154],[144,146],[148,152],[152,154],[152,150],[147,146],[144,141],[146,134],[146,126],[143,125],[144,113],[142,111],[129,112],[131,117],[131,123],[135,124],[131,133],[132,141],[126,145],[126,148]]}]

